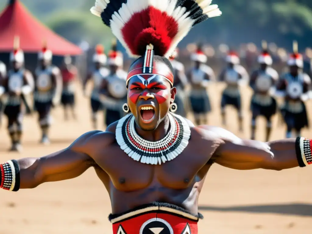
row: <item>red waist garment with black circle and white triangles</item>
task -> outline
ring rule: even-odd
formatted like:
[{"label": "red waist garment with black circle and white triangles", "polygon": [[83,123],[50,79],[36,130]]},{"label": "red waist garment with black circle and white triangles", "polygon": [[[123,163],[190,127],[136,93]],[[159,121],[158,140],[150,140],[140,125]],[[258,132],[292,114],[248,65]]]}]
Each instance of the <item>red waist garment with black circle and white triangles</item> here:
[{"label": "red waist garment with black circle and white triangles", "polygon": [[197,234],[201,214],[168,203],[153,202],[121,214],[110,214],[113,234]]}]

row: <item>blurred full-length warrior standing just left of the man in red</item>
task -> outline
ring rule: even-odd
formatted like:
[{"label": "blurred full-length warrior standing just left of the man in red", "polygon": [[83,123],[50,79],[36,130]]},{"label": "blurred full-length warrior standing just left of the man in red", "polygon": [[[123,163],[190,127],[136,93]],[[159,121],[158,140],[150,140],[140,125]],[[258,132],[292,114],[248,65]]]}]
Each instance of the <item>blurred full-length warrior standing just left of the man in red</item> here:
[{"label": "blurred full-length warrior standing just left of the man in red", "polygon": [[51,65],[52,51],[46,43],[38,53],[39,66],[35,70],[35,109],[38,112],[38,122],[41,128],[41,143],[49,144],[49,129],[52,123],[51,107],[58,105],[62,93],[62,78],[58,67]]}]

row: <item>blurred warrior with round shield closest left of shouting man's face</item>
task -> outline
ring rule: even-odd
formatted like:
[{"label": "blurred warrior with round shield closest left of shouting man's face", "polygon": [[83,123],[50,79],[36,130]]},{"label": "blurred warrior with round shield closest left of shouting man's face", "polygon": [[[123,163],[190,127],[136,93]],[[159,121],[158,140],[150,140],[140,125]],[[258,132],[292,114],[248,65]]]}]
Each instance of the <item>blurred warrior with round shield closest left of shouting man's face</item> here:
[{"label": "blurred warrior with round shield closest left of shouting man's face", "polygon": [[[122,106],[127,100],[127,72],[122,69],[124,65],[123,55],[117,51],[116,41],[113,42],[112,50],[109,52],[107,64],[110,72],[102,81],[100,95],[106,109],[105,126],[124,116]],[[128,112],[128,109],[125,111]]]}]

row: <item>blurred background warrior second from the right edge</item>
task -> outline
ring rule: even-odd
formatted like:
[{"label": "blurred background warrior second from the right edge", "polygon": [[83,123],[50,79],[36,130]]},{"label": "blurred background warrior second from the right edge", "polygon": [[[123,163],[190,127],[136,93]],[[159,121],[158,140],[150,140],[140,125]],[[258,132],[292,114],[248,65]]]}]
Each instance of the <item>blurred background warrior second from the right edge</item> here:
[{"label": "blurred background warrior second from the right edge", "polygon": [[267,50],[266,41],[262,41],[262,53],[258,56],[260,67],[253,71],[249,85],[254,90],[251,98],[251,139],[255,139],[256,119],[258,116],[266,118],[266,141],[269,141],[272,116],[276,113],[277,103],[274,98],[275,85],[279,78],[277,71],[271,66],[272,57]]}]

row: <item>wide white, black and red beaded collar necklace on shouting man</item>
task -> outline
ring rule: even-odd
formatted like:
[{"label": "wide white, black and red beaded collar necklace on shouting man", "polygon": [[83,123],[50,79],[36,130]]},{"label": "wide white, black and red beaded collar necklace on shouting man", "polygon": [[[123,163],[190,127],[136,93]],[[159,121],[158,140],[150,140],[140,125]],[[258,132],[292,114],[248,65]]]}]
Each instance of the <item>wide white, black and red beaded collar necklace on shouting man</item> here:
[{"label": "wide white, black and red beaded collar necklace on shouting man", "polygon": [[132,159],[146,164],[160,165],[176,158],[187,147],[191,130],[183,117],[171,112],[168,117],[168,134],[159,141],[148,141],[136,133],[134,116],[124,116],[116,127],[116,140],[120,149]]}]

